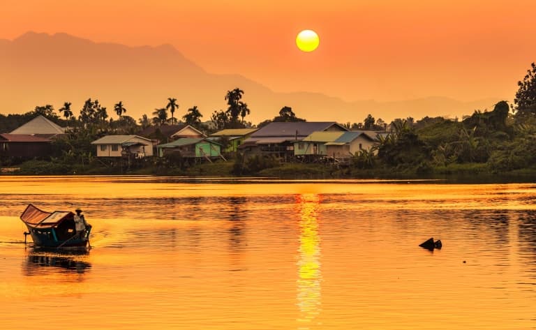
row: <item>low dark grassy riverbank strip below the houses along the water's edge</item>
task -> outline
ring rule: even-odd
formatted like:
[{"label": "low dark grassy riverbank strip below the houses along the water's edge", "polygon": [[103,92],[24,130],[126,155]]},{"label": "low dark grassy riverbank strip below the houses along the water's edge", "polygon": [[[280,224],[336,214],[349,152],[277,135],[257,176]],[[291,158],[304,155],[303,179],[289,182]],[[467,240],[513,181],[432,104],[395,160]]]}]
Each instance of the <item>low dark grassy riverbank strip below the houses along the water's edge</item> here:
[{"label": "low dark grassy riverbank strip below the houses along the water's edge", "polygon": [[463,182],[531,182],[536,168],[492,173],[486,164],[466,163],[434,167],[426,172],[392,167],[358,169],[319,163],[284,163],[258,172],[236,173],[234,160],[201,163],[181,168],[153,163],[125,166],[68,165],[43,160],[29,160],[16,167],[1,167],[0,175],[155,175],[177,177],[272,177],[281,179],[440,179]]}]

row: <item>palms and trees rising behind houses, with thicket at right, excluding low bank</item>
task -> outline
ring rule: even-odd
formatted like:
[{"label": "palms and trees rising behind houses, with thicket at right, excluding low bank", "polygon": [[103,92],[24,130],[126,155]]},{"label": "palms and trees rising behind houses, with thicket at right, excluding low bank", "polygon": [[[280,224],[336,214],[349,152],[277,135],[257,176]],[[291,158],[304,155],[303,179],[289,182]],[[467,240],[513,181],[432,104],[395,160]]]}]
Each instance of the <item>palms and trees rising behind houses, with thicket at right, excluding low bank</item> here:
[{"label": "palms and trees rising behind houses, with thicket at right, excluding low bank", "polygon": [[[493,110],[475,110],[463,119],[408,117],[387,124],[368,114],[362,123],[350,122],[343,126],[357,130],[379,132],[378,142],[371,150],[352,155],[350,173],[354,171],[385,171],[398,173],[449,173],[449,172],[508,172],[536,170],[536,66],[530,65],[525,77],[518,82],[514,103],[502,100]],[[251,113],[239,88],[225,93],[226,110],[211,114],[211,126],[201,121],[202,114],[193,106],[181,117],[184,123],[211,133],[225,128],[243,128],[253,125],[246,121]],[[0,114],[0,131],[9,132],[38,114],[70,128],[71,139],[58,144],[54,157],[72,158],[89,162],[94,157],[91,141],[106,134],[134,134],[151,124],[177,123],[176,98],[168,98],[165,106],[156,108],[153,117],[143,115],[138,121],[126,115],[127,107],[121,101],[114,105],[117,120],[108,117],[106,107],[98,100],[88,99],[80,115],[75,117],[71,104],[66,102],[54,112],[52,105],[38,106],[26,114]],[[168,111],[171,118],[168,118]],[[272,121],[306,121],[297,117],[291,107],[284,106],[272,119],[262,121],[258,128]],[[59,145],[61,144],[61,145]],[[272,166],[277,162],[262,162]],[[268,165],[267,165],[268,164]],[[255,167],[260,170],[260,167]]]}]

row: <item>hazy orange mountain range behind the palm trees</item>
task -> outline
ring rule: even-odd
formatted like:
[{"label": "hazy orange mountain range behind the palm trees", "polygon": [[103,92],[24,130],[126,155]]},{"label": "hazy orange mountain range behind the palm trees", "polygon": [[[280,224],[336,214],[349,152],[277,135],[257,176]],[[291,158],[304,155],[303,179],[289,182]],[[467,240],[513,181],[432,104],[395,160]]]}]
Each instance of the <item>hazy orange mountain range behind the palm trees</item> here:
[{"label": "hazy orange mountain range behind the palm trees", "polygon": [[461,102],[434,96],[347,102],[322,93],[275,92],[241,75],[207,73],[194,61],[171,45],[128,47],[94,43],[65,33],[29,32],[15,40],[0,39],[0,113],[24,113],[46,104],[59,109],[68,101],[77,116],[84,100],[91,98],[107,107],[110,117],[117,117],[113,106],[122,101],[126,114],[139,119],[142,114],[152,117],[151,113],[172,97],[179,103],[175,117],[197,105],[202,120],[209,120],[214,110],[226,109],[225,93],[235,87],[244,90],[243,100],[251,110],[246,120],[252,123],[275,117],[285,105],[308,121],[354,123],[362,122],[368,114],[385,121],[462,117],[474,110],[492,110],[501,100]]}]

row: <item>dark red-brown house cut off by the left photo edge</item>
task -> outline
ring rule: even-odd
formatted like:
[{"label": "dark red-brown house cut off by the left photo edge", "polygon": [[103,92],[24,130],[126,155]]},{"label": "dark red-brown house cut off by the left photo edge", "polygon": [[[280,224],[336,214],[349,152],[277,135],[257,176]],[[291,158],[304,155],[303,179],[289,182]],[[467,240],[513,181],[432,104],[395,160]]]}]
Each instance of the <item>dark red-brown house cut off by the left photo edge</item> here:
[{"label": "dark red-brown house cut off by the left photo edge", "polygon": [[52,141],[27,134],[0,134],[0,156],[34,158],[50,156]]}]

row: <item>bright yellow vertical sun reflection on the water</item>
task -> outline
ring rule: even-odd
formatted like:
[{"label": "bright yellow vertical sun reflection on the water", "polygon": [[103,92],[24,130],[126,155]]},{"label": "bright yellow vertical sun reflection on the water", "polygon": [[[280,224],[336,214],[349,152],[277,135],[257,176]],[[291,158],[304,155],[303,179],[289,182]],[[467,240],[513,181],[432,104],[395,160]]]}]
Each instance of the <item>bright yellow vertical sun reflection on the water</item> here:
[{"label": "bright yellow vertical sun reflection on the water", "polygon": [[312,326],[321,311],[320,237],[318,235],[318,207],[320,195],[302,194],[299,206],[299,259],[297,304],[299,329]]}]

